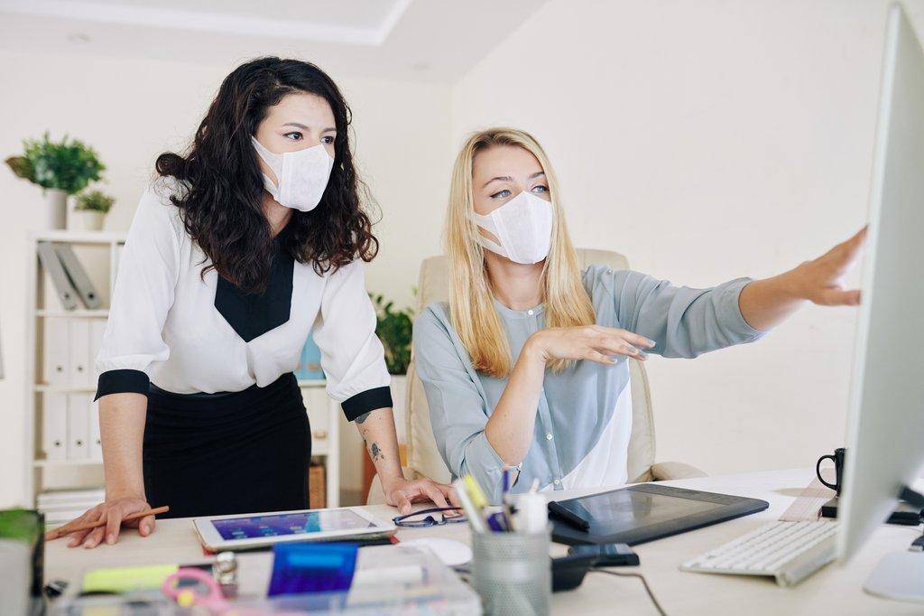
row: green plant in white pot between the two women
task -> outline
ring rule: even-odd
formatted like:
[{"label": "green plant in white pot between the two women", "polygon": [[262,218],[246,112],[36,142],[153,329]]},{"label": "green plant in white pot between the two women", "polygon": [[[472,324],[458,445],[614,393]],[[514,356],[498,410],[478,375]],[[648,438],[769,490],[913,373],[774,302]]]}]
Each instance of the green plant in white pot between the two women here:
[{"label": "green plant in white pot between the two women", "polygon": [[375,304],[375,333],[385,348],[385,366],[392,375],[392,402],[395,410],[395,430],[398,442],[407,442],[405,434],[405,400],[407,400],[407,364],[410,363],[410,342],[414,312],[410,308],[395,309],[382,295],[371,295]]}]

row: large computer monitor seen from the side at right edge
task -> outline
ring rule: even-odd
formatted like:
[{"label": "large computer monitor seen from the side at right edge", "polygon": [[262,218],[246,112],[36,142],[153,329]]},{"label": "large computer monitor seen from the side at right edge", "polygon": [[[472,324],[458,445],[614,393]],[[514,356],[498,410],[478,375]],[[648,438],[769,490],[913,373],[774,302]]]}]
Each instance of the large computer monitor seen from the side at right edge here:
[{"label": "large computer monitor seen from the side at right edge", "polygon": [[[838,559],[893,511],[924,462],[924,50],[902,6],[889,9],[869,197],[863,300],[847,420]],[[919,506],[919,505],[918,505]],[[913,537],[909,537],[910,540]],[[904,598],[924,600],[924,553]],[[887,557],[881,566],[887,563]],[[877,569],[878,573],[882,573]],[[891,575],[892,573],[890,573]],[[867,590],[898,597],[900,591]],[[881,581],[881,580],[880,580]],[[901,585],[901,580],[893,580]],[[909,580],[909,582],[911,582]]]}]

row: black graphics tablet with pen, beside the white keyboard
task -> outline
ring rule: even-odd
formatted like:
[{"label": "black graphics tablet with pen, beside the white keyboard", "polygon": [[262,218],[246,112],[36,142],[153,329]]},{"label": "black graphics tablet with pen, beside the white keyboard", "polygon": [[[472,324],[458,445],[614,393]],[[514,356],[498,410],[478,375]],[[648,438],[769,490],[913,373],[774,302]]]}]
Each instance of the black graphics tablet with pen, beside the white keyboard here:
[{"label": "black graphics tablet with pen, beside the white keyboard", "polygon": [[[768,507],[770,503],[766,500],[639,484],[578,499],[552,501],[549,513],[553,522],[552,538],[559,543],[627,543],[634,546]],[[590,524],[579,524],[577,520]]]}]

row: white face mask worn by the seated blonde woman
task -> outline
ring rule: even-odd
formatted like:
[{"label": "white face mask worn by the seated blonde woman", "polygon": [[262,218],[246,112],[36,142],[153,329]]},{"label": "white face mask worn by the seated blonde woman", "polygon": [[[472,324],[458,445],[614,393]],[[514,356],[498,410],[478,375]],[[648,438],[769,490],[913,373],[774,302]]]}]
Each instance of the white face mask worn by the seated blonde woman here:
[{"label": "white face mask worn by the seated blonde woman", "polygon": [[552,246],[552,203],[531,192],[520,192],[487,216],[471,213],[471,219],[501,240],[500,244],[479,234],[482,246],[514,263],[539,263]]}]

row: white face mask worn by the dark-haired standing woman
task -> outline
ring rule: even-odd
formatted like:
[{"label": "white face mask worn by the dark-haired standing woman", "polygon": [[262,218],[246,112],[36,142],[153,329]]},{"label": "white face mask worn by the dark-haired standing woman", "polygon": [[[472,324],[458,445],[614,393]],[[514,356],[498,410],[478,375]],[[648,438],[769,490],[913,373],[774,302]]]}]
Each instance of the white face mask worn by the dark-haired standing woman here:
[{"label": "white face mask worn by the dark-haired standing woman", "polygon": [[334,168],[334,159],[323,145],[318,144],[298,152],[284,152],[273,154],[255,138],[253,147],[276,176],[279,185],[263,174],[263,186],[266,187],[273,198],[286,207],[302,212],[310,212],[318,203],[331,177]]}]

